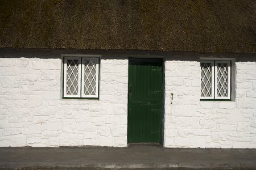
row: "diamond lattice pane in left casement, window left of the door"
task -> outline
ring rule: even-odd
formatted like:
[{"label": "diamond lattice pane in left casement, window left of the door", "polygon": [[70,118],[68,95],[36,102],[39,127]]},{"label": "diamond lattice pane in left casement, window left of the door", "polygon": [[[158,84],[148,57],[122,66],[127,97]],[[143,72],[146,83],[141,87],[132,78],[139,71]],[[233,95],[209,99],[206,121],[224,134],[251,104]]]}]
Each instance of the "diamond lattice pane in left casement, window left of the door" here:
[{"label": "diamond lattice pane in left casement, window left of the door", "polygon": [[79,94],[79,60],[67,59],[67,82],[66,94],[77,95]]}]

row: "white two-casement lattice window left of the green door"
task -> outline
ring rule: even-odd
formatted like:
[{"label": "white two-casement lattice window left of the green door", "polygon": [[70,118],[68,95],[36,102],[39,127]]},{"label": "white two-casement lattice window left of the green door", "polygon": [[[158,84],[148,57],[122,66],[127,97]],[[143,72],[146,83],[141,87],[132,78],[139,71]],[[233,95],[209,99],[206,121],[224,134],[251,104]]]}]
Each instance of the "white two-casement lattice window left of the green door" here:
[{"label": "white two-casement lattice window left of the green door", "polygon": [[98,98],[98,58],[65,57],[63,97]]}]

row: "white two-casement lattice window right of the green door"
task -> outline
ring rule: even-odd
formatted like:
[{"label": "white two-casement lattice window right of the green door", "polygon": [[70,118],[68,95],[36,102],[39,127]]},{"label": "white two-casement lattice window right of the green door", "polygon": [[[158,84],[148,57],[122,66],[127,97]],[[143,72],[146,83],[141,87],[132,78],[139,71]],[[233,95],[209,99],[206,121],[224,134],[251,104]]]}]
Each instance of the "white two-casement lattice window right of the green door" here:
[{"label": "white two-casement lattice window right of the green door", "polygon": [[230,99],[231,62],[201,61],[201,99]]}]

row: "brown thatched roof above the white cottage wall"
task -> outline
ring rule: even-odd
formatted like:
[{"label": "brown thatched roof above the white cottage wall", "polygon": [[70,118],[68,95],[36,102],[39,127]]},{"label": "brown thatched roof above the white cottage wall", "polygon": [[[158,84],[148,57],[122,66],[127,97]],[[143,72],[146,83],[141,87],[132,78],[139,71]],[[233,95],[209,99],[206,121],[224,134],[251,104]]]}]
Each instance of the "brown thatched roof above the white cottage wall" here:
[{"label": "brown thatched roof above the white cottage wall", "polygon": [[255,0],[0,0],[0,48],[256,53]]}]

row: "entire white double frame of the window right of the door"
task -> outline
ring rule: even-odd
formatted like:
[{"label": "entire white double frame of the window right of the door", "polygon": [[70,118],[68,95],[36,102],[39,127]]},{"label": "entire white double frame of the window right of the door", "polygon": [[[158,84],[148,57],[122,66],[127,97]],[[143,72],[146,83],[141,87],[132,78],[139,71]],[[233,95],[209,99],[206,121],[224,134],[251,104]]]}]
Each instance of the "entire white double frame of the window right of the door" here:
[{"label": "entire white double frame of the window right of the door", "polygon": [[[201,63],[212,63],[212,96],[204,97],[201,96]],[[228,64],[228,96],[220,97],[217,96],[217,64],[227,63]],[[200,99],[210,99],[210,100],[231,100],[231,60],[201,60],[200,61]]]}]

